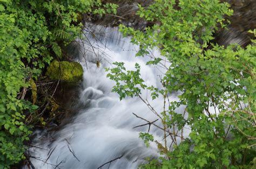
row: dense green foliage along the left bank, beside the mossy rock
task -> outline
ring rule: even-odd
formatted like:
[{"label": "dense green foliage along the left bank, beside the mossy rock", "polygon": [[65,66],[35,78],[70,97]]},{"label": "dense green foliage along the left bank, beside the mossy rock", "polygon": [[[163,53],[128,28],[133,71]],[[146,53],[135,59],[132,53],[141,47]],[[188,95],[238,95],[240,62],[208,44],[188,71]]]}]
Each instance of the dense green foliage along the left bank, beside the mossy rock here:
[{"label": "dense green foliage along the left bank, beside the mossy rock", "polygon": [[53,58],[62,57],[62,46],[78,38],[81,13],[102,15],[117,8],[99,6],[98,0],[0,0],[0,168],[24,159],[23,142],[31,133],[24,112],[37,109],[24,100],[31,85],[36,102],[35,83],[29,81],[37,80]]}]

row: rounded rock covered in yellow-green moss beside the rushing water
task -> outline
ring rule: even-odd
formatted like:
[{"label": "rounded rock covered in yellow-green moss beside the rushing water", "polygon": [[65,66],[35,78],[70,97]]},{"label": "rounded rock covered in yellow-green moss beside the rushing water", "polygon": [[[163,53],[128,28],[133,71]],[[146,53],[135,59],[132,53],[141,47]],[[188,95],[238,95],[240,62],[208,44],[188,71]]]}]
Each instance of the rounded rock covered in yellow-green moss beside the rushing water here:
[{"label": "rounded rock covered in yellow-green moss beside the rushing water", "polygon": [[62,80],[73,84],[82,80],[83,67],[78,62],[53,60],[46,75],[52,80]]}]

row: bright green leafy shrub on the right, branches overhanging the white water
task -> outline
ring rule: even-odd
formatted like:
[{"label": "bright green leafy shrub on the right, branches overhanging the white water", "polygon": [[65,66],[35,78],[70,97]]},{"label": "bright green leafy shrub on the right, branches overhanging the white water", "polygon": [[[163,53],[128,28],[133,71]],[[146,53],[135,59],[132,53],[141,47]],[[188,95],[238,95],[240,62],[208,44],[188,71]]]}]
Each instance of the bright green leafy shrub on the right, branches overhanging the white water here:
[{"label": "bright green leafy shrub on the right, branches overhanging the white water", "polygon": [[[232,15],[228,7],[219,0],[156,0],[147,9],[139,5],[138,15],[158,24],[147,27],[145,32],[120,26],[124,36],[131,35],[131,42],[139,45],[137,56],[149,55],[149,50],[157,47],[165,58],[147,62],[166,67],[161,88],[143,83],[138,64],[136,71],[126,71],[123,63],[107,69],[110,72],[107,76],[116,81],[113,91],[120,99],[139,96],[143,100],[140,96],[143,89],[151,92],[152,100],[158,96],[164,98],[162,112],[150,109],[161,119],[164,136],[173,131],[170,138],[173,150],[160,150],[163,157],[140,167],[251,165],[256,138],[255,40],[246,48],[237,44],[225,48],[211,43],[218,25],[224,27],[227,23],[224,15]],[[171,66],[166,66],[164,60]],[[181,91],[179,101],[167,103],[166,97],[173,91]],[[182,115],[174,111],[180,105],[186,105]],[[185,125],[191,128],[188,138],[183,137]],[[164,147],[167,148],[166,142]]]}]

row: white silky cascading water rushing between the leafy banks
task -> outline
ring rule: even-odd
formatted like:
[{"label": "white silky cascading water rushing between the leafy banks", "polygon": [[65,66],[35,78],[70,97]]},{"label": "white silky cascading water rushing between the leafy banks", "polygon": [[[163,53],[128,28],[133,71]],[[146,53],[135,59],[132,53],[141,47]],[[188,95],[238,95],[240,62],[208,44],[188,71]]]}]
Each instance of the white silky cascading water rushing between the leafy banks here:
[{"label": "white silky cascading water rushing between the leafy banks", "polygon": [[[136,168],[145,163],[146,157],[159,156],[156,144],[150,143],[147,148],[138,137],[139,132],[146,132],[148,126],[133,129],[146,122],[136,118],[132,112],[149,121],[156,120],[157,116],[139,98],[120,101],[117,94],[111,93],[114,83],[106,78],[104,68],[111,67],[113,61],[123,61],[127,69],[134,69],[137,62],[145,83],[158,87],[158,75],[164,70],[145,65],[149,58],[134,57],[137,47],[130,44],[129,38],[122,38],[117,28],[90,26],[99,33],[92,36],[87,34],[90,43],[84,41],[81,52],[86,57],[86,63],[83,57],[78,59],[84,66],[84,79],[77,104],[83,108],[62,129],[51,132],[51,135],[45,134],[46,131],[44,134],[38,133],[33,144],[43,149],[30,149],[31,156],[39,157],[31,158],[36,168],[55,168],[56,165],[57,168],[98,168],[121,156],[102,168]],[[94,51],[91,46],[95,47]],[[153,54],[159,56],[158,51],[153,51]],[[99,67],[96,66],[97,60],[100,61]],[[146,91],[142,96],[147,97]],[[150,100],[149,97],[147,99]],[[171,99],[177,100],[177,97],[173,94]],[[154,109],[163,111],[163,98],[151,103]],[[179,109],[177,111],[184,111],[184,107]],[[156,123],[161,125],[160,120]],[[157,140],[163,140],[162,130],[151,126],[150,133]],[[43,135],[47,139],[39,139]]]}]

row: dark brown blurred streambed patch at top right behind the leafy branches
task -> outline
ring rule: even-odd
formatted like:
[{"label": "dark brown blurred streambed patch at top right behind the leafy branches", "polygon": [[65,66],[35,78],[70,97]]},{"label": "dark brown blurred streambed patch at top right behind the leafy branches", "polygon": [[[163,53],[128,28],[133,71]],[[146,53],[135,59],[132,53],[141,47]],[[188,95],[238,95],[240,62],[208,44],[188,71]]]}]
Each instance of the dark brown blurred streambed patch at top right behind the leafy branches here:
[{"label": "dark brown blurred streambed patch at top right behind the leafy branches", "polygon": [[254,38],[249,30],[256,27],[256,1],[255,0],[221,0],[229,3],[234,11],[233,15],[227,17],[230,24],[227,29],[220,29],[215,33],[214,42],[219,45],[228,46],[237,43],[242,47],[251,43]]}]

